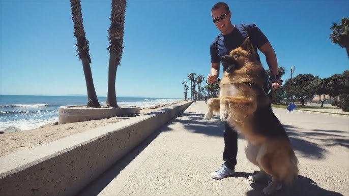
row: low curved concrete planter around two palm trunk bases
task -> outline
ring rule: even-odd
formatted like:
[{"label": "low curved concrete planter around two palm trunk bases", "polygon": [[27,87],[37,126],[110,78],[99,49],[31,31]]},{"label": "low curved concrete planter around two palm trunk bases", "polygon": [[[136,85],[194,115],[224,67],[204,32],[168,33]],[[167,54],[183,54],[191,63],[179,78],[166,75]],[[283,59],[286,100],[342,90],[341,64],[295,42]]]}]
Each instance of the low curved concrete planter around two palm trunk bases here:
[{"label": "low curved concrete planter around two palm trunk bases", "polygon": [[118,115],[139,114],[139,107],[91,108],[86,106],[61,106],[58,114],[58,123],[65,124],[111,118]]}]

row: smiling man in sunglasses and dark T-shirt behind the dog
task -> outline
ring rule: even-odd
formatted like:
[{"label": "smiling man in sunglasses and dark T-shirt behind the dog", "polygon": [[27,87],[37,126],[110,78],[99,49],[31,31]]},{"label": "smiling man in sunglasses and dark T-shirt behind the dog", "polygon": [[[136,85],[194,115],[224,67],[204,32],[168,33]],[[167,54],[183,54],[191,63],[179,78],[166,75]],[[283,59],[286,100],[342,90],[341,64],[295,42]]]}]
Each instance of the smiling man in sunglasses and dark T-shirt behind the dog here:
[{"label": "smiling man in sunglasses and dark T-shirt behind the dog", "polygon": [[[227,55],[231,50],[238,48],[243,41],[250,37],[251,43],[256,50],[256,57],[260,61],[257,49],[266,56],[270,69],[270,82],[273,89],[281,85],[280,77],[277,75],[277,58],[273,47],[267,37],[255,24],[237,24],[231,23],[231,12],[226,3],[219,2],[211,10],[213,22],[221,33],[211,44],[211,74],[208,75],[208,82],[214,83],[219,76],[221,56]],[[228,67],[223,64],[223,71]],[[236,156],[238,153],[238,133],[234,128],[225,123],[224,132],[224,151],[221,168],[211,174],[214,179],[222,179],[232,175],[235,172],[237,164]]]}]

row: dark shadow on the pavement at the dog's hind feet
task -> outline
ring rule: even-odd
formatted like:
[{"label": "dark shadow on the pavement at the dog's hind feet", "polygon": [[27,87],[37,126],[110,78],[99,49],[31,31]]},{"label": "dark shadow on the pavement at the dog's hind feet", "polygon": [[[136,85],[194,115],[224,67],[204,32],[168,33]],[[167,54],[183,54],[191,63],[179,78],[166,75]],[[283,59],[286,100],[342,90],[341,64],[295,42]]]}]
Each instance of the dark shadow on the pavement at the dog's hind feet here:
[{"label": "dark shadow on the pavement at the dog's hind feet", "polygon": [[[248,176],[255,175],[257,171],[253,174],[246,172],[236,172],[232,177],[235,178],[246,178],[248,180]],[[268,178],[262,179],[258,182],[251,182],[250,186],[253,188],[246,192],[247,196],[256,196],[256,195],[264,195],[263,189],[268,185]],[[316,182],[307,178],[305,176],[298,175],[296,181],[288,187],[283,187],[281,190],[274,192],[272,195],[275,196],[343,196],[343,194],[326,190],[324,188],[319,187]]]}]

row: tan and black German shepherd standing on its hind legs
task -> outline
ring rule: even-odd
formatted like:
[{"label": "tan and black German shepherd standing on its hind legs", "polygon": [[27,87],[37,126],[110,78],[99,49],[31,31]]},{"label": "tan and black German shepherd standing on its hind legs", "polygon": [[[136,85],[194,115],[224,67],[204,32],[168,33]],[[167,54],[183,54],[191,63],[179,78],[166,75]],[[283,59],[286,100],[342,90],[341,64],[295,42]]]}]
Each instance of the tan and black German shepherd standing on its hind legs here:
[{"label": "tan and black German shepherd standing on its hind legs", "polygon": [[208,101],[205,119],[219,112],[222,121],[245,136],[247,159],[260,169],[248,179],[258,181],[269,174],[272,181],[263,192],[271,194],[280,184],[290,185],[296,179],[298,159],[263,90],[265,71],[255,57],[249,38],[222,56],[222,61],[229,67],[219,84],[219,97]]}]

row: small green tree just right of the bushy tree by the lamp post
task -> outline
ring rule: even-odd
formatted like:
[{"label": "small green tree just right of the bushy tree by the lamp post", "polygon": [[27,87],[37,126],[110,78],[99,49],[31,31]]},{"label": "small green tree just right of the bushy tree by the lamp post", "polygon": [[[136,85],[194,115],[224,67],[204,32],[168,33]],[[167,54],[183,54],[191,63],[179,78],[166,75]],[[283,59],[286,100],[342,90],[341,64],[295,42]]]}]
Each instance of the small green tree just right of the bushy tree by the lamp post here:
[{"label": "small green tree just right of the bushy tree by the lamp post", "polygon": [[[318,95],[318,99],[321,102],[321,107],[324,107],[324,102],[328,100],[329,91],[326,88],[328,82],[329,80],[327,78],[315,78],[313,81],[310,82],[308,86],[311,92]],[[323,96],[323,99],[321,99],[321,96]]]}]

